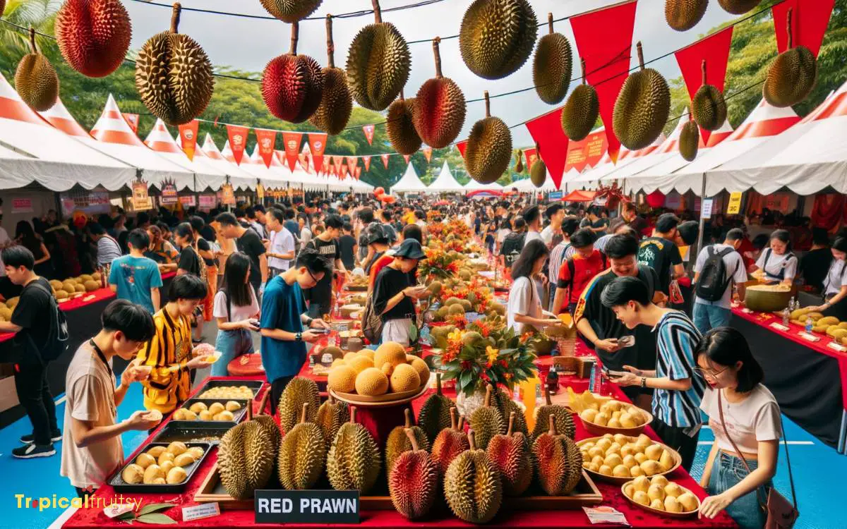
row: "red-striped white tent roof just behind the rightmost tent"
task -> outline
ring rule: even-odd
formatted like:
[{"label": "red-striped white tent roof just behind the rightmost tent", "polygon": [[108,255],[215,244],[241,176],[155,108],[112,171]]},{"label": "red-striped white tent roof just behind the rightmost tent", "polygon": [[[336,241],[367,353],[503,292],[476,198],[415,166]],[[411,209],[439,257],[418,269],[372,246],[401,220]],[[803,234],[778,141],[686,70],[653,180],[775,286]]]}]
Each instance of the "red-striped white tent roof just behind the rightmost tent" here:
[{"label": "red-striped white tent roof just behind the rightmost tent", "polygon": [[[738,129],[721,141],[708,152],[698,153],[695,161],[678,169],[676,173],[667,174],[664,178],[655,179],[654,184],[645,185],[645,190],[659,189],[667,193],[677,190],[684,193],[693,190],[700,194],[703,185],[703,175],[723,163],[727,163],[746,152],[750,152],[756,146],[761,145],[768,138],[778,135],[789,129],[791,125],[800,121],[800,117],[794,113],[791,107],[777,108],[769,105],[764,99],[745,119]],[[711,141],[711,138],[709,138]],[[717,194],[713,185],[708,184],[706,179],[706,196]],[[650,189],[652,187],[652,189]],[[722,188],[721,188],[722,189]],[[710,192],[712,190],[713,192]]]}]

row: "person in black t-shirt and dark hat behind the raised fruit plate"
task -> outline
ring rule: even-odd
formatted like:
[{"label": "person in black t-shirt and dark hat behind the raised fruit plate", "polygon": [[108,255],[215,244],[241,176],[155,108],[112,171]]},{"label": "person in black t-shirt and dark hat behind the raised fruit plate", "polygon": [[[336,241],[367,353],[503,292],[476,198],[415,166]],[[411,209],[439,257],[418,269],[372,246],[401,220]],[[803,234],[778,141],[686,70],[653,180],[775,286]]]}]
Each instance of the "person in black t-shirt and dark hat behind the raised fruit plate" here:
[{"label": "person in black t-shirt and dark hat behind the raised fruit plate", "polygon": [[424,258],[417,240],[407,239],[396,249],[394,261],[379,271],[374,281],[374,311],[382,319],[382,343],[410,343],[409,329],[415,322],[415,300],[429,293],[412,285],[409,272]]}]

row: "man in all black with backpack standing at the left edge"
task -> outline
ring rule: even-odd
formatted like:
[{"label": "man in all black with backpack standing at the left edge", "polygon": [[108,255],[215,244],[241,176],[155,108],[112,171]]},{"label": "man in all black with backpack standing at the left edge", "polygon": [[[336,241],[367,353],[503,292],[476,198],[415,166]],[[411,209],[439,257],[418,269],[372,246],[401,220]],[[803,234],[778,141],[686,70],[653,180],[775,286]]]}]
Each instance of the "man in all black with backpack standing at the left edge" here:
[{"label": "man in all black with backpack standing at the left edge", "polygon": [[68,347],[68,323],[47,279],[33,272],[36,259],[31,251],[21,245],[8,246],[0,257],[8,279],[23,287],[12,317],[0,322],[0,333],[16,333],[14,388],[32,423],[32,434],[20,438],[24,446],[13,449],[12,456],[47,457],[56,454],[53,443],[62,440],[47,366]]}]

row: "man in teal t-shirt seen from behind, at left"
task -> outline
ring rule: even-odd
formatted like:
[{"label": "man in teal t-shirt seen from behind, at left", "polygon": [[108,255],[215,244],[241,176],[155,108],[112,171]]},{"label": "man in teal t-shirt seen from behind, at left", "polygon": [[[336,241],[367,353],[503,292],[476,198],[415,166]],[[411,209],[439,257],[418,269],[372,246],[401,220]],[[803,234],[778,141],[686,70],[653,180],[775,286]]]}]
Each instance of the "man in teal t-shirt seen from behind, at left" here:
[{"label": "man in teal t-shirt seen from behind, at left", "polygon": [[118,294],[118,299],[130,300],[155,314],[161,305],[162,274],[158,264],[144,256],[150,245],[150,235],[143,229],[133,229],[126,237],[126,244],[130,247],[130,255],[112,262],[108,284]]}]

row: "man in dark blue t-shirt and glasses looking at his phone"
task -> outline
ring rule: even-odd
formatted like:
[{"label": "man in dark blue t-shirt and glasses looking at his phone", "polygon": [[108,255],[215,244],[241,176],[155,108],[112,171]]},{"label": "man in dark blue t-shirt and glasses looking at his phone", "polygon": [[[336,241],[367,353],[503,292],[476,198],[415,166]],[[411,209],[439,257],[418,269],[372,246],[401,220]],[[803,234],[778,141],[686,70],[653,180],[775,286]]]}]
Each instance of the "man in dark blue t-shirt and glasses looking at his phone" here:
[{"label": "man in dark blue t-shirt and glasses looking at his phone", "polygon": [[[300,372],[306,361],[306,343],[313,344],[328,329],[320,318],[306,315],[303,290],[312,289],[331,273],[329,260],[318,251],[306,248],[293,267],[268,281],[262,298],[262,365],[271,383],[271,412],[276,413],[285,386]],[[303,330],[305,324],[307,330]]]}]

